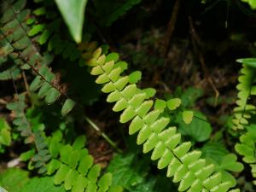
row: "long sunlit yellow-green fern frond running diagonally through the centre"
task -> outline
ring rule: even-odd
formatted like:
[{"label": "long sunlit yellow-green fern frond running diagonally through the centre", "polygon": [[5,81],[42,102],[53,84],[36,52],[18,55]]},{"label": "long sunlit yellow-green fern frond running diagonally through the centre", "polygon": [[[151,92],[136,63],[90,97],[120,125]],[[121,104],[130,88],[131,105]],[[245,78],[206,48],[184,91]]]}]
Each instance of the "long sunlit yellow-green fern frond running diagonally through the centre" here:
[{"label": "long sunlit yellow-green fern frond running diagonally through the centre", "polygon": [[[88,53],[87,58],[90,49]],[[90,56],[86,64],[92,67],[90,73],[98,76],[96,83],[103,84],[102,92],[109,94],[107,102],[115,102],[114,112],[123,111],[120,123],[131,121],[129,134],[138,132],[137,144],[143,144],[143,153],[153,150],[151,160],[158,160],[159,169],[167,167],[166,176],[179,182],[179,191],[225,192],[234,187],[213,164],[201,158],[201,151],[189,151],[191,143],[182,142],[176,127],[167,128],[170,119],[163,110],[153,108],[154,101],[147,92],[130,83],[128,75],[121,76],[125,67],[119,64],[118,54],[104,55],[98,48]]]}]

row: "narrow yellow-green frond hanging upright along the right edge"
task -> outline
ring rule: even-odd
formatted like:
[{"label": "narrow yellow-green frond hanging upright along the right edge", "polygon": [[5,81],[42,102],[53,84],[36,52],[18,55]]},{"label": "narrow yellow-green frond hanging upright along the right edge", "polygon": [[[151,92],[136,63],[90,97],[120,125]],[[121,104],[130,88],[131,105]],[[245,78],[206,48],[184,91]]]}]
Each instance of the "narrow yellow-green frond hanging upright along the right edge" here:
[{"label": "narrow yellow-green frond hanging upright along the right edge", "polygon": [[237,107],[234,108],[234,119],[232,120],[235,130],[244,129],[244,125],[248,124],[248,119],[255,114],[256,107],[249,104],[250,96],[256,95],[256,69],[248,65],[247,60],[238,60],[242,62],[241,75],[238,78],[239,84],[236,88],[238,90],[238,99],[236,101]]}]

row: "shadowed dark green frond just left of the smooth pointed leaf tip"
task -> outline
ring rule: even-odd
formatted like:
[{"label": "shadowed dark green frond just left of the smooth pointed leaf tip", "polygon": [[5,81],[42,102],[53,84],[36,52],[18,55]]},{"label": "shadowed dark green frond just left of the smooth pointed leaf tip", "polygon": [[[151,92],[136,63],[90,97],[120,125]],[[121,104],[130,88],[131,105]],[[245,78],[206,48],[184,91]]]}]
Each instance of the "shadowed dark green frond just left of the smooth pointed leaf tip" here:
[{"label": "shadowed dark green frond just left of the smooth pointed leaf tip", "polygon": [[40,45],[46,44],[48,51],[55,55],[62,55],[71,61],[78,59],[80,51],[76,49],[77,45],[67,38],[68,33],[61,31],[61,15],[52,10],[55,3],[43,1],[37,5],[38,9],[32,12],[32,19],[26,23],[32,27],[28,32],[29,37],[36,38]]}]

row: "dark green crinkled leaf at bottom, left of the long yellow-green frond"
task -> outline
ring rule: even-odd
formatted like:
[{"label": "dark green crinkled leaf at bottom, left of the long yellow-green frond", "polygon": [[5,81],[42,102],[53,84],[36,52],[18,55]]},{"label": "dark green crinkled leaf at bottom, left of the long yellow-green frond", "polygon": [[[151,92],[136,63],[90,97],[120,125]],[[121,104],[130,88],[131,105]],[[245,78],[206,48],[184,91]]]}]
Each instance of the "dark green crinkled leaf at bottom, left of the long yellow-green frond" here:
[{"label": "dark green crinkled leaf at bottom, left of the long yellow-green frond", "polygon": [[108,172],[113,174],[113,183],[122,185],[127,191],[177,191],[169,178],[160,174],[151,175],[148,158],[141,157],[135,151],[116,154],[108,166]]}]

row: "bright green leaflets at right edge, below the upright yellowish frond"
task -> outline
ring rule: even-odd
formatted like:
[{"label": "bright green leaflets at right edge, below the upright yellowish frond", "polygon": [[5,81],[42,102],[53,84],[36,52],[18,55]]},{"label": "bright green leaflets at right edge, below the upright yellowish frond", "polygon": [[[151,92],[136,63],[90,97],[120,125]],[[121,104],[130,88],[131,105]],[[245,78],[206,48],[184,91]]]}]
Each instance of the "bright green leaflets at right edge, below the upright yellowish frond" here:
[{"label": "bright green leaflets at right edge, below the upright yellowish frond", "polygon": [[[236,152],[241,154],[242,160],[251,166],[252,175],[256,178],[256,131],[247,131],[240,137],[240,142],[235,146]],[[253,183],[256,185],[256,180]]]}]

